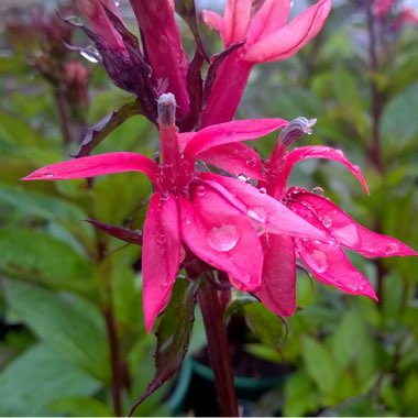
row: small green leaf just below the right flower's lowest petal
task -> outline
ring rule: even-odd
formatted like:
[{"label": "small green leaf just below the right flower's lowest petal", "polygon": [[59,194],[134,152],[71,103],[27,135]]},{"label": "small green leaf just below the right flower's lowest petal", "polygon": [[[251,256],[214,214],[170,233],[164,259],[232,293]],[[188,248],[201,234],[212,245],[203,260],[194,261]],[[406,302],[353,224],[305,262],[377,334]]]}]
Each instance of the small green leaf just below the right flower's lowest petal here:
[{"label": "small green leaf just below the right flower's lowest petal", "polygon": [[280,318],[267,310],[263,304],[244,306],[245,321],[253,333],[266,345],[279,348],[285,324]]}]

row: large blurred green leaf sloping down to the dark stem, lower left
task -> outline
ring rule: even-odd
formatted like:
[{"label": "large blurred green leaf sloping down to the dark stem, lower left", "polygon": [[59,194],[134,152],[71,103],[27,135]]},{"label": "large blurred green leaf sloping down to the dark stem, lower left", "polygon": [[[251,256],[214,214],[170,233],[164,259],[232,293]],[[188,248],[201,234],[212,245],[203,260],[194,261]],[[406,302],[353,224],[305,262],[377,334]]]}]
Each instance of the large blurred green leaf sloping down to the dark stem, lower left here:
[{"label": "large blurred green leaf sloping down to the dark stem, lower left", "polygon": [[[42,340],[102,382],[110,380],[109,351],[99,314],[86,299],[7,280],[12,310]],[[81,305],[80,305],[81,304]]]}]

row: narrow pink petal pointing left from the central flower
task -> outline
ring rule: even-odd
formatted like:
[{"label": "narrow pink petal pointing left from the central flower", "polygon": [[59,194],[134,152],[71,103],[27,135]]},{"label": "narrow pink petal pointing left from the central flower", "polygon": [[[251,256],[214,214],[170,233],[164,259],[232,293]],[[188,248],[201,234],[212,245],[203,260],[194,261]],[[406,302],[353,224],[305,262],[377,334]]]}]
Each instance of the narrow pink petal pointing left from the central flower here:
[{"label": "narrow pink petal pointing left from the central flower", "polygon": [[113,173],[142,172],[155,182],[157,165],[146,156],[135,153],[118,152],[92,155],[47,165],[36,169],[22,180],[63,180],[88,178]]}]

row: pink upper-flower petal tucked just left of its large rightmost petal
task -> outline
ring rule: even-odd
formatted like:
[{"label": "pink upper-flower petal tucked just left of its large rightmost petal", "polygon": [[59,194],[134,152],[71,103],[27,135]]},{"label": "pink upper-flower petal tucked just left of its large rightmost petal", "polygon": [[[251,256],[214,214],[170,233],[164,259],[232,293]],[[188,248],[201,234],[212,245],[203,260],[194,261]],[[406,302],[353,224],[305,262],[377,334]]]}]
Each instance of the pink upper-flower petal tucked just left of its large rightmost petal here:
[{"label": "pink upper-flower petal tucked just left of its large rightmost petal", "polygon": [[289,10],[290,0],[264,1],[250,23],[246,45],[252,45],[284,26]]}]

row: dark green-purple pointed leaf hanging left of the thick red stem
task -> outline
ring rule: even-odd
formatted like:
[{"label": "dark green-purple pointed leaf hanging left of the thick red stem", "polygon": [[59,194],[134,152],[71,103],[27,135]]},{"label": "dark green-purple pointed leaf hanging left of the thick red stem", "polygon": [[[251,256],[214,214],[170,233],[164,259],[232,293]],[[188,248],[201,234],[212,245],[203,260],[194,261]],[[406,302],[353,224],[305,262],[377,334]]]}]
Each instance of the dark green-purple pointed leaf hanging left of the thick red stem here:
[{"label": "dark green-purple pointed leaf hanging left of the thick red stem", "polygon": [[156,332],[156,374],[133,410],[180,369],[193,330],[197,286],[196,282],[177,279]]}]

